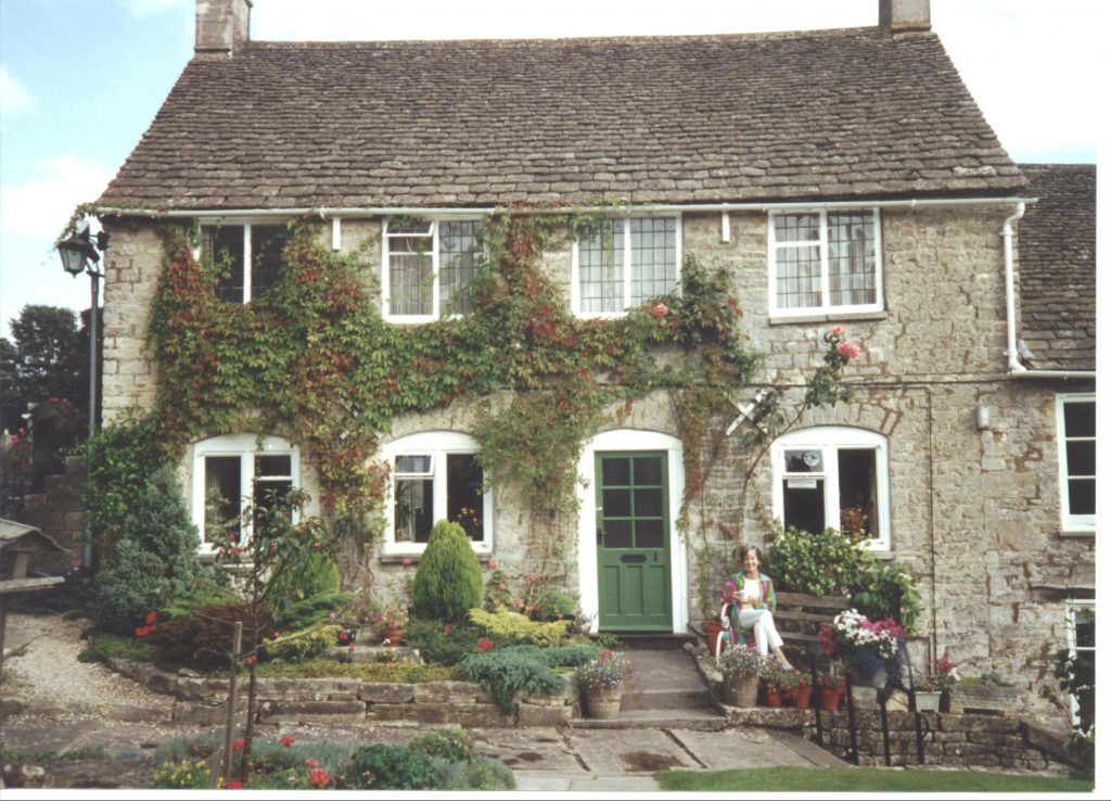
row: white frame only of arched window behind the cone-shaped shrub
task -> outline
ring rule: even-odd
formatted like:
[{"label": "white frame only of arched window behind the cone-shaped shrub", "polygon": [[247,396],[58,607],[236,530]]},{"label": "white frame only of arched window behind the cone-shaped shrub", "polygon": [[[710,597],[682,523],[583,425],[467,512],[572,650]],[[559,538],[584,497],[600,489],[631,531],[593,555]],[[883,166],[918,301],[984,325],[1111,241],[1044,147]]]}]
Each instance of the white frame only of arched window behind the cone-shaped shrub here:
[{"label": "white frame only of arched window behind the cone-shaped shrub", "polygon": [[[444,480],[437,480],[448,474],[448,455],[456,453],[478,453],[479,445],[473,437],[458,431],[421,431],[400,437],[382,447],[381,458],[390,468],[390,480],[387,482],[386,501],[386,534],[382,543],[383,553],[401,553],[407,555],[424,552],[428,543],[398,542],[394,539],[394,493],[393,484],[396,457],[431,455],[432,474],[432,520],[444,520],[448,517],[448,485]],[[406,473],[410,475],[411,473]],[[483,475],[483,478],[487,478]],[[486,482],[489,485],[489,481]],[[493,552],[493,491],[487,489],[482,493],[482,540],[471,540],[471,548],[477,553]]]}]

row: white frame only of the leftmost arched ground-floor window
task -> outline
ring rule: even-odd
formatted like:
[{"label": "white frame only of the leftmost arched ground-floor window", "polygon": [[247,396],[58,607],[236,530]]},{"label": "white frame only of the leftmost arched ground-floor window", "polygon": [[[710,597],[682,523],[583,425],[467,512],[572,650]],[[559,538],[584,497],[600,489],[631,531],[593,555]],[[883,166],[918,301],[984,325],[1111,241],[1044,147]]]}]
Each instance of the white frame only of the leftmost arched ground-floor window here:
[{"label": "white frame only of the leftmost arched ground-floor window", "polygon": [[[283,455],[290,457],[290,483],[293,488],[299,488],[301,485],[300,449],[282,437],[269,434],[260,440],[256,434],[222,434],[193,444],[190,517],[201,535],[200,553],[216,552],[212,543],[204,541],[204,461],[209,457],[239,458],[239,510],[242,513],[254,497],[254,458]],[[241,532],[239,544],[246,544],[250,540],[250,528],[251,524],[248,521]]]}]

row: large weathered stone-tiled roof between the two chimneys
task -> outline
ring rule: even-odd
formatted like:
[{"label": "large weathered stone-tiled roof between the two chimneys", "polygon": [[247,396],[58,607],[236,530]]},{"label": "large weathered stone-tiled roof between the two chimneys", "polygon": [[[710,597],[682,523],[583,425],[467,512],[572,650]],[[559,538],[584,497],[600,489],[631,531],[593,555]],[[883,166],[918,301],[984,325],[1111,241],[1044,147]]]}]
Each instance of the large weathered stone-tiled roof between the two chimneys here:
[{"label": "large weathered stone-tiled roof between the two chimneys", "polygon": [[1024,187],[933,33],[250,42],[194,59],[102,206],[590,204]]}]

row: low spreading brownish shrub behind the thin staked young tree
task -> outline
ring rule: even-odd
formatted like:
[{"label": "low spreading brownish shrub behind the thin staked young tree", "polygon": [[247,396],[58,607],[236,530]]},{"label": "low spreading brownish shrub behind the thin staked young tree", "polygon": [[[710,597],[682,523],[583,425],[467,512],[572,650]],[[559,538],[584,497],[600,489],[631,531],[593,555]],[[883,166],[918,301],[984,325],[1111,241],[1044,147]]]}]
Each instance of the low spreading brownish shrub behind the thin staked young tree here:
[{"label": "low spreading brownish shrub behind the thin staked young tree", "polygon": [[248,653],[270,631],[263,629],[268,614],[251,618],[243,601],[199,607],[186,615],[168,620],[153,633],[154,641],[167,659],[177,664],[213,670],[231,663],[231,644],[236,622],[243,623],[242,652]]}]

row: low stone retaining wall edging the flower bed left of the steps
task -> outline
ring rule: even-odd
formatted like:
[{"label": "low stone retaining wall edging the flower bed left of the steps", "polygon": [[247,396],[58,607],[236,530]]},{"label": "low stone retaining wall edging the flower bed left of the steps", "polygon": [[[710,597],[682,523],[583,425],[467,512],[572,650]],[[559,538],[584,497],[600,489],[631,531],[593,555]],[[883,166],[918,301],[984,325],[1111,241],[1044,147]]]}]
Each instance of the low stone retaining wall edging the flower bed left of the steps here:
[{"label": "low stone retaining wall edging the flower bed left of the steps", "polygon": [[[403,649],[393,649],[401,651]],[[219,725],[228,708],[229,680],[208,679],[191,671],[169,673],[150,664],[110,660],[119,673],[154,692],[172,695],[174,721]],[[463,727],[506,728],[567,725],[579,712],[578,693],[568,682],[565,692],[551,697],[519,694],[506,712],[478,684],[430,681],[420,684],[361,679],[259,679],[259,722],[370,723],[412,721],[458,723]],[[239,713],[247,711],[247,682],[237,692]]]}]

